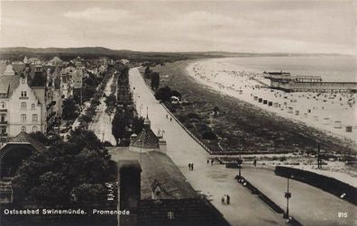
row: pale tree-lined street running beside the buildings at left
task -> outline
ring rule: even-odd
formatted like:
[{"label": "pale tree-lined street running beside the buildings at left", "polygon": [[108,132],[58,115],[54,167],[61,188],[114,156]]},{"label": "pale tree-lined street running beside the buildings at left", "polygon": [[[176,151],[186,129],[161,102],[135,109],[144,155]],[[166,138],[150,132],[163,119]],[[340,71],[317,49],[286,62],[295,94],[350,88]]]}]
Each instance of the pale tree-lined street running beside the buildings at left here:
[{"label": "pale tree-lined street running beside the buildings at left", "polygon": [[[111,90],[110,86],[113,83],[114,75],[108,80],[105,86],[105,95],[110,95]],[[109,141],[113,145],[116,144],[115,138],[112,134],[112,122],[111,120],[114,117],[114,114],[109,116],[105,113],[106,104],[105,97],[100,99],[100,104],[97,107],[96,116],[93,119],[93,122],[89,125],[89,130],[96,133],[96,137],[101,141]]]}]

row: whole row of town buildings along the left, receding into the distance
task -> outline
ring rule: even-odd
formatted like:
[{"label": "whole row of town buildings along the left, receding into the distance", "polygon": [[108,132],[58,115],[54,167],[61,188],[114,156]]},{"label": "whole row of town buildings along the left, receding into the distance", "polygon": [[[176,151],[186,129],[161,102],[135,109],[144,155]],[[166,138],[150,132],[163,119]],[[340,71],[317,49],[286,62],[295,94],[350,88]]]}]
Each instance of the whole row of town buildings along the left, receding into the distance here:
[{"label": "whole row of town buildings along the left, receding into the distance", "polygon": [[62,115],[62,101],[81,89],[88,73],[101,74],[105,64],[87,70],[83,59],[55,57],[2,61],[0,65],[0,139],[21,131],[48,131]]}]

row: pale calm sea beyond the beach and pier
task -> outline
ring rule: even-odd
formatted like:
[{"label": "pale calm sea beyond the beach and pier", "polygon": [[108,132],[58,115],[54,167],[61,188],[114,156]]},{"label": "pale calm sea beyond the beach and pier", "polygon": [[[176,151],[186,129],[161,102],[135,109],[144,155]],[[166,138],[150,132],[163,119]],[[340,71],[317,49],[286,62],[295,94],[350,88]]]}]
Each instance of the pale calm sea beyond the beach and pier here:
[{"label": "pale calm sea beyond the beach and pier", "polygon": [[247,72],[285,71],[293,76],[320,76],[323,81],[357,82],[357,56],[242,57],[217,61]]}]

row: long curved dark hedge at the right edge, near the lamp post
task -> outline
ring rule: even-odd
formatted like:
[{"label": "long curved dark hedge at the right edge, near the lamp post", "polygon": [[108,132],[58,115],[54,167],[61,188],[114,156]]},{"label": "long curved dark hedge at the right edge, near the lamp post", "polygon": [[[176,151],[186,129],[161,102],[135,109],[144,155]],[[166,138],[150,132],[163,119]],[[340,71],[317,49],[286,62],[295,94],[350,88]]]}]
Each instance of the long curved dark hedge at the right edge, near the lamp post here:
[{"label": "long curved dark hedge at the right edge, near the lamp post", "polygon": [[317,188],[343,198],[350,203],[357,204],[357,188],[332,177],[316,174],[303,169],[280,166],[275,167],[275,174],[284,177],[294,176],[294,180],[316,186]]}]

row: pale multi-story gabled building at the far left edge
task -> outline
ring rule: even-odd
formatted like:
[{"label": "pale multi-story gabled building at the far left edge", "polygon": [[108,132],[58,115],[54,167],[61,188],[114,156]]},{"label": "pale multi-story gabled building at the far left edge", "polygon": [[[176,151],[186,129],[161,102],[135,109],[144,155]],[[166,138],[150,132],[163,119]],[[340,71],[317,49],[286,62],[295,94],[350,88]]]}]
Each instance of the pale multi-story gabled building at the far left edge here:
[{"label": "pale multi-story gabled building at the far left edge", "polygon": [[32,85],[25,74],[11,73],[8,65],[0,76],[0,135],[14,137],[21,131],[45,131],[46,107],[39,74],[35,73]]}]

